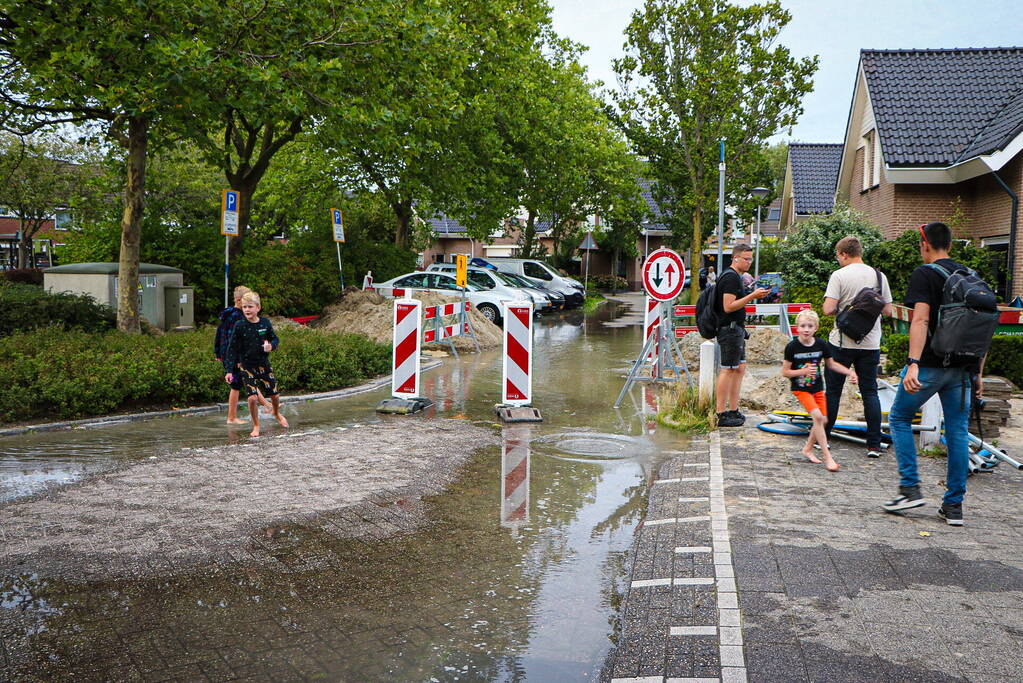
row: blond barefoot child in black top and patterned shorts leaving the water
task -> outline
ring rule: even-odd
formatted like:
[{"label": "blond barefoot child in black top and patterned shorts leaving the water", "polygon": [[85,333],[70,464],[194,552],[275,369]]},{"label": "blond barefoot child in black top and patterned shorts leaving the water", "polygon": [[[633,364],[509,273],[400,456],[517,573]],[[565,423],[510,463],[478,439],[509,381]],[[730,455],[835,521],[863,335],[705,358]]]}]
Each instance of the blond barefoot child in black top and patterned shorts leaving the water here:
[{"label": "blond barefoot child in black top and patterned shorts leaving the water", "polygon": [[273,405],[273,416],[281,426],[287,420],[280,414],[280,397],[277,394],[277,378],[270,367],[270,352],[277,348],[279,340],[273,325],[267,318],[260,317],[260,299],[255,291],[241,297],[241,312],[244,320],[234,326],[227,353],[224,356],[224,379],[228,383],[237,374],[249,396],[249,415],[253,420],[252,436],[259,436],[259,395],[269,396]]}]

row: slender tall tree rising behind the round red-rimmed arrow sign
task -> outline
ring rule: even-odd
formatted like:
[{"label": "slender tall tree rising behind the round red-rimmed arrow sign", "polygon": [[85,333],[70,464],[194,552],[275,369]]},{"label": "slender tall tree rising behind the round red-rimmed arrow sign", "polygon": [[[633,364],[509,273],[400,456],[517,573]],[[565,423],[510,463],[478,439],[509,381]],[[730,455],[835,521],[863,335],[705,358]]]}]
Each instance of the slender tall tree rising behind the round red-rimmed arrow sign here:
[{"label": "slender tall tree rising behind the round red-rimmed arrow sign", "polygon": [[[704,216],[716,202],[718,142],[726,141],[735,200],[763,168],[764,141],[802,112],[817,58],[774,45],[790,18],[776,0],[647,0],[625,30],[626,55],[614,61],[616,121],[650,158],[675,236],[690,223],[694,254],[712,224]],[[698,294],[699,284],[694,302]]]}]

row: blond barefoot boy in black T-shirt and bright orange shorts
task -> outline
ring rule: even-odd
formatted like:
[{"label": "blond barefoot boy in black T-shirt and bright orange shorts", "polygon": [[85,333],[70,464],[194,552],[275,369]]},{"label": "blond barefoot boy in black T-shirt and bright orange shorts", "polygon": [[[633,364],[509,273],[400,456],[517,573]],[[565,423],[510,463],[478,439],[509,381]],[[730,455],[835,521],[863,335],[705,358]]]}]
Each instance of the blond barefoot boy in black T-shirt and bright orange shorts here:
[{"label": "blond barefoot boy in black T-shirt and bright orange shorts", "polygon": [[792,382],[792,394],[799,400],[813,418],[813,427],[803,446],[803,455],[810,462],[819,463],[813,455],[813,444],[820,445],[820,453],[825,456],[825,465],[829,471],[837,471],[839,464],[832,458],[828,448],[828,437],[825,425],[828,423],[828,408],[825,401],[825,384],[822,380],[824,365],[829,370],[844,374],[856,383],[856,373],[844,365],[835,362],[827,344],[814,336],[820,327],[820,319],[813,311],[800,311],[796,316],[796,329],[799,335],[785,348],[785,362],[782,364],[782,374]]}]

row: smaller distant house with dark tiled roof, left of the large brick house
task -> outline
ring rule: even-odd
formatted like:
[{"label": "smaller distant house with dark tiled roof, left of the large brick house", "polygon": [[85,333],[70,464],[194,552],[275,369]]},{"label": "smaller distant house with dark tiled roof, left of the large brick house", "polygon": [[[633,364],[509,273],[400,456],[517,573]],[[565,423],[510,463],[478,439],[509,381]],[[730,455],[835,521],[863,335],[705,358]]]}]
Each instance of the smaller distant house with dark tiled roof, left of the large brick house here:
[{"label": "smaller distant house with dark tiled roof, left of the large brick house", "polygon": [[789,145],[782,211],[779,224],[785,228],[835,208],[835,187],[842,163],[841,143],[793,142]]}]

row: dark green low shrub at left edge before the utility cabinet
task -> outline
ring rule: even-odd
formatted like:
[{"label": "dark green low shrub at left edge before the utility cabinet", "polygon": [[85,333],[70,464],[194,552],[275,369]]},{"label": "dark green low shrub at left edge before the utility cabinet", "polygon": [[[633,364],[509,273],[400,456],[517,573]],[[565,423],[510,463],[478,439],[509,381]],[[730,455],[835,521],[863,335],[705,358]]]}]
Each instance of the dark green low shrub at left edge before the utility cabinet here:
[{"label": "dark green low shrub at left edge before the utility cabinet", "polygon": [[87,294],[53,293],[23,283],[0,283],[0,336],[60,325],[69,329],[113,329],[117,316],[110,307]]}]

